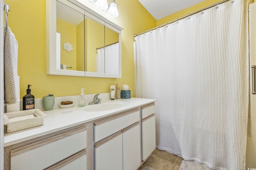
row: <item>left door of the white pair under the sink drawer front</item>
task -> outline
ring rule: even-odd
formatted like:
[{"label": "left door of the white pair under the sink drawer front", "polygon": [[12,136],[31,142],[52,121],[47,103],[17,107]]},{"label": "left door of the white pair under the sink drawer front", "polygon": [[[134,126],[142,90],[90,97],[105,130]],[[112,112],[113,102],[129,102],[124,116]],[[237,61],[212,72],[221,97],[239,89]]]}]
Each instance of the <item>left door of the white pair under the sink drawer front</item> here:
[{"label": "left door of the white pair under the sink drawer front", "polygon": [[122,170],[122,131],[95,144],[95,170]]}]

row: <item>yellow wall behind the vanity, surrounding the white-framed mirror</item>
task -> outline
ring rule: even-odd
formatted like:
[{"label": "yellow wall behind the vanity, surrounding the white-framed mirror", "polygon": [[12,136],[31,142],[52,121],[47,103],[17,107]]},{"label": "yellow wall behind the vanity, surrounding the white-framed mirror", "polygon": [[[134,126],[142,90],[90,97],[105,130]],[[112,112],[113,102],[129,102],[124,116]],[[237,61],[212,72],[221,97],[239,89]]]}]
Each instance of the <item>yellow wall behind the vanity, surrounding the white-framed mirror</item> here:
[{"label": "yellow wall behind the vanity, surrounding the white-framed mirror", "polygon": [[109,92],[110,85],[120,83],[130,86],[134,96],[134,33],[156,26],[156,20],[138,0],[116,1],[119,16],[115,23],[122,31],[122,78],[92,78],[46,75],[46,16],[45,0],[4,0],[10,5],[8,26],[18,41],[18,75],[20,97],[26,94],[31,84],[35,98],[48,94],[54,96],[79,95]]}]

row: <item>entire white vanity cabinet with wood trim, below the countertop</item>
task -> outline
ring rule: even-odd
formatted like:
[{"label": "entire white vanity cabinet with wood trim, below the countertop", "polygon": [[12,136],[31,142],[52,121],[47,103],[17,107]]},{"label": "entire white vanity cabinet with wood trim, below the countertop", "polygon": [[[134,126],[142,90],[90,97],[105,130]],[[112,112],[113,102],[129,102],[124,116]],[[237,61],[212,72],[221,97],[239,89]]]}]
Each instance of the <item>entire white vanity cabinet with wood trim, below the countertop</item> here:
[{"label": "entire white vanity cabinet with wood trim, below the countertop", "polygon": [[154,113],[154,102],[135,105],[14,142],[4,147],[4,170],[136,170],[156,148]]}]

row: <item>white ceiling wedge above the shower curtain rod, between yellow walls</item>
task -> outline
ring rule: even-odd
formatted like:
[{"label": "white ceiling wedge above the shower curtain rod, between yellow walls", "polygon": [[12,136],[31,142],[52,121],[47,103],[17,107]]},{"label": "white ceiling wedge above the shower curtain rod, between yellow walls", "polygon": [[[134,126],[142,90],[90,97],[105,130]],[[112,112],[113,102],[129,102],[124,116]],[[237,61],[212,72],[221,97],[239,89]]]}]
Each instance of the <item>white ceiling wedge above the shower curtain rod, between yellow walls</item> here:
[{"label": "white ceiling wedge above the shower curtain rod, between yellow walls", "polygon": [[148,12],[160,20],[205,0],[138,0]]}]

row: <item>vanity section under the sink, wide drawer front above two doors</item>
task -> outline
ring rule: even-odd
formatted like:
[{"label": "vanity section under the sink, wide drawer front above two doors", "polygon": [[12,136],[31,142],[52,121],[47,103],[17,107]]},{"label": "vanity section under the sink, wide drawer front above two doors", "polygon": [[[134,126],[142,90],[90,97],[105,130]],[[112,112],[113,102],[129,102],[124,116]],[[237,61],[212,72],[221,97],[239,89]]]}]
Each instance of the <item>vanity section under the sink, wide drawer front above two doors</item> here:
[{"label": "vanity section under the sink, wide drawer front above two doors", "polygon": [[135,170],[140,166],[139,121],[140,111],[133,109],[94,123],[96,141],[106,137],[94,145],[95,170]]}]

